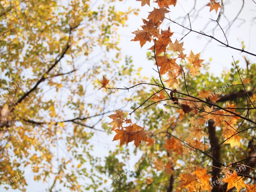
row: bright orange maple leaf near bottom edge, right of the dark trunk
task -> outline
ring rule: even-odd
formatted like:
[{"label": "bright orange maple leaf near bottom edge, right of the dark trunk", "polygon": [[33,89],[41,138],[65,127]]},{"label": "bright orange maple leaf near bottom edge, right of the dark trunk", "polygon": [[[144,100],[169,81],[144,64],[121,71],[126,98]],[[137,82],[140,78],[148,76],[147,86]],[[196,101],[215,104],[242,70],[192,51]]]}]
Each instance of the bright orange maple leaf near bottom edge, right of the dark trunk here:
[{"label": "bright orange maple leaf near bottom edge, right of the dark trunk", "polygon": [[246,188],[242,177],[237,176],[236,172],[227,174],[223,181],[228,183],[227,191],[233,187],[236,187],[237,192],[240,191],[240,188]]}]

